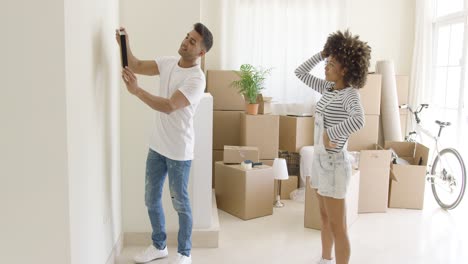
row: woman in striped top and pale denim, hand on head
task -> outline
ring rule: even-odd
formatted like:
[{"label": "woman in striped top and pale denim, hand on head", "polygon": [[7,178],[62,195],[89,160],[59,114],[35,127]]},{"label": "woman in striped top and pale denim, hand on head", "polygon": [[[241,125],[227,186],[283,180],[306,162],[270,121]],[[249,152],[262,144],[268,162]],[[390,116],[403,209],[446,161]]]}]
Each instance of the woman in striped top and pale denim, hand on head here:
[{"label": "woman in striped top and pale denim, hand on head", "polygon": [[[357,89],[366,83],[371,48],[349,31],[331,34],[322,52],[299,66],[296,76],[322,94],[315,111],[311,187],[316,189],[322,221],[320,264],[347,264],[350,243],[345,195],[351,177],[346,151],[349,136],[364,126],[364,111]],[[326,59],[325,80],[310,74]]]}]

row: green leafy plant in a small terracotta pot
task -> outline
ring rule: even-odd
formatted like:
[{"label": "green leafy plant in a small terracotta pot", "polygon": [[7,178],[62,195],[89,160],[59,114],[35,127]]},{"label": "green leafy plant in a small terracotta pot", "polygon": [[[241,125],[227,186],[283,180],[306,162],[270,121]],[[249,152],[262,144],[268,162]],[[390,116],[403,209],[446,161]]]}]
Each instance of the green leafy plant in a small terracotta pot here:
[{"label": "green leafy plant in a small terracotta pot", "polygon": [[246,106],[247,114],[256,115],[258,113],[257,96],[264,89],[263,82],[270,71],[271,68],[266,70],[257,69],[250,64],[242,64],[240,71],[236,71],[240,79],[233,81],[231,85],[238,89],[248,103]]}]

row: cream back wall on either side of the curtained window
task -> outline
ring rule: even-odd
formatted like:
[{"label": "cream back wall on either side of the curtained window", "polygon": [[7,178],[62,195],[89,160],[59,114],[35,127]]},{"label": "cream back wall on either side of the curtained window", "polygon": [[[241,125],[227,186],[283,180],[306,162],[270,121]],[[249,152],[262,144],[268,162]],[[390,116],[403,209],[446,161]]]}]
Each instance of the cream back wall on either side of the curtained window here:
[{"label": "cream back wall on either side of the curtained window", "polygon": [[[206,69],[221,68],[221,1],[201,0],[201,20],[214,35],[214,46],[206,57]],[[348,27],[372,47],[371,69],[377,60],[395,63],[397,74],[410,74],[414,43],[414,0],[343,0]],[[313,34],[313,32],[311,32]],[[313,52],[313,51],[311,51]]]}]

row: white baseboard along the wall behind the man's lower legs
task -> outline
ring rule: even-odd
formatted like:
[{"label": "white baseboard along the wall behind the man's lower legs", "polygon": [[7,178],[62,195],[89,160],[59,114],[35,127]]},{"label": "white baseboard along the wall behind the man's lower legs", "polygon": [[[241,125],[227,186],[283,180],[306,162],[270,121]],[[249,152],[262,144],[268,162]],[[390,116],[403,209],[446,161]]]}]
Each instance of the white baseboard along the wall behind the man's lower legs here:
[{"label": "white baseboard along the wall behind the man's lower legs", "polygon": [[[218,206],[216,204],[216,195],[212,190],[212,226],[204,229],[192,230],[193,248],[217,248],[219,243],[219,218]],[[167,245],[177,246],[177,231],[167,232]],[[125,232],[124,246],[147,246],[151,244],[151,232]]]}]

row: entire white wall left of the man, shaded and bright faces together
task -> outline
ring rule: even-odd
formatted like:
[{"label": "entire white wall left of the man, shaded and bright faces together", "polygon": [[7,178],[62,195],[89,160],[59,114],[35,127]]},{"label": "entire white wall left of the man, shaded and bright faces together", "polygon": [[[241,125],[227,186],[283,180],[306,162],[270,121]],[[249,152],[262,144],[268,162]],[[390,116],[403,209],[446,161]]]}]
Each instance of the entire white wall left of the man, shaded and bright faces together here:
[{"label": "entire white wall left of the man, shaded and bright faces together", "polygon": [[106,263],[121,233],[118,2],[0,12],[1,262]]}]

